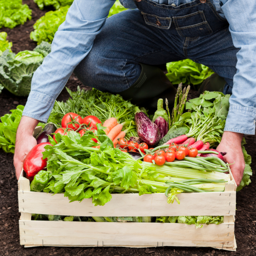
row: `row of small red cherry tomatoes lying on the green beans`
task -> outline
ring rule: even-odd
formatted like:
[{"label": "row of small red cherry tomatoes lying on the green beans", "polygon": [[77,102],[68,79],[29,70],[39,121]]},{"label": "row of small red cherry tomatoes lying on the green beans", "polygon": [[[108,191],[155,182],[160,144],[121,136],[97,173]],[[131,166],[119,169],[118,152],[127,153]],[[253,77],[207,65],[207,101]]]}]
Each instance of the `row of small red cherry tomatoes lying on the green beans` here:
[{"label": "row of small red cherry tomatoes lying on the green beans", "polygon": [[169,148],[165,150],[157,150],[154,155],[148,154],[144,156],[144,162],[153,163],[153,160],[157,165],[163,165],[165,162],[173,162],[175,158],[177,160],[182,160],[185,156],[196,157],[198,151],[196,148],[188,149],[184,146],[170,145]]}]

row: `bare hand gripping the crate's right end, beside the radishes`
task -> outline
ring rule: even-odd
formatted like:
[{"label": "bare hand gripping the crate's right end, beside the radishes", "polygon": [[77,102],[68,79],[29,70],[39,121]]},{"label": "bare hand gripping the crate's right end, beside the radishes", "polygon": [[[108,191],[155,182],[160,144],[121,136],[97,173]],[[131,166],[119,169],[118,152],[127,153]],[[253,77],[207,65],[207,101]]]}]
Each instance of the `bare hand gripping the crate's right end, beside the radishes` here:
[{"label": "bare hand gripping the crate's right end, beside the radishes", "polygon": [[243,136],[243,133],[226,131],[223,133],[220,145],[217,147],[219,152],[227,152],[227,155],[223,157],[226,162],[231,164],[230,169],[237,186],[239,186],[243,178],[245,167],[244,154],[241,147]]}]

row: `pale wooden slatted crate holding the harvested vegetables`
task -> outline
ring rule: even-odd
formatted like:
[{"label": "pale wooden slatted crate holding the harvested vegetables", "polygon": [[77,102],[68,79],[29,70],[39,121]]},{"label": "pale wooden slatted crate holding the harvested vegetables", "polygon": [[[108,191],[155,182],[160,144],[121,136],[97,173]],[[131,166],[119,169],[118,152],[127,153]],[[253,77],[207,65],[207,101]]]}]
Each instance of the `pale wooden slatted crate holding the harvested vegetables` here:
[{"label": "pale wooden slatted crate holding the harvested vegetables", "polygon": [[[35,131],[36,132],[36,131]],[[236,183],[232,173],[224,192],[180,193],[180,204],[162,194],[112,194],[104,206],[92,199],[69,203],[64,194],[30,192],[21,172],[18,181],[20,244],[33,246],[196,246],[236,251],[234,221]],[[70,216],[224,216],[219,225],[138,222],[74,222],[31,220],[31,213]]]}]

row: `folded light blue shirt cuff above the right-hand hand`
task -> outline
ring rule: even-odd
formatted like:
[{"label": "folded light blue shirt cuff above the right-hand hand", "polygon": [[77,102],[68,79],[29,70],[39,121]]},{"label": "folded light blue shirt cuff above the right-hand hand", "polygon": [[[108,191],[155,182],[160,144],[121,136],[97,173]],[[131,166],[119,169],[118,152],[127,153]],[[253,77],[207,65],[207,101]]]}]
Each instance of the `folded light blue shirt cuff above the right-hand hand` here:
[{"label": "folded light blue shirt cuff above the right-hand hand", "polygon": [[256,109],[230,105],[224,131],[255,134]]}]

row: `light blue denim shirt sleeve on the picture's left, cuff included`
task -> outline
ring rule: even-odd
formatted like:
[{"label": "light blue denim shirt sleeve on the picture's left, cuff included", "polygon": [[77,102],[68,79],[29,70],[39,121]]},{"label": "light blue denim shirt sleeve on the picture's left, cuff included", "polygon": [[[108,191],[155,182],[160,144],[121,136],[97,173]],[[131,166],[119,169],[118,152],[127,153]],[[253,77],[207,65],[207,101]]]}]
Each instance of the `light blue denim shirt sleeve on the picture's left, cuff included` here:
[{"label": "light blue denim shirt sleeve on the picture's left, cuff included", "polygon": [[33,75],[23,116],[47,122],[55,99],[92,49],[114,3],[115,0],[74,0],[55,33],[51,53]]}]

